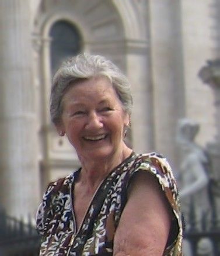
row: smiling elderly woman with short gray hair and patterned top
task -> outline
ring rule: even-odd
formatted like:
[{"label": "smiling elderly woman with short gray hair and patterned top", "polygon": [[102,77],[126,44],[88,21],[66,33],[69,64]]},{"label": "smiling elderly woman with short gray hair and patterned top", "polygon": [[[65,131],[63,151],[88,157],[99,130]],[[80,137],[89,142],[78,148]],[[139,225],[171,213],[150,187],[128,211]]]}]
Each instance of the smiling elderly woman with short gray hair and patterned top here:
[{"label": "smiling elderly woman with short gray hair and patterned top", "polygon": [[81,168],[44,194],[40,255],[181,255],[176,182],[161,155],[125,144],[131,108],[127,78],[102,56],[79,54],[55,74],[51,120]]}]

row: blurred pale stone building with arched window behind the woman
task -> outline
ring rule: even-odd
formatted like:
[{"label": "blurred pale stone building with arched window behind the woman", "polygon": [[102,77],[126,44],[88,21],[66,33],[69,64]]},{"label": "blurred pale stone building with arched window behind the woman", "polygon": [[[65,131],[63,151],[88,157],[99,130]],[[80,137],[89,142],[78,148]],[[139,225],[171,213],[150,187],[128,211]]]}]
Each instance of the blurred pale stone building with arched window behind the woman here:
[{"label": "blurred pale stone building with arched window behind the woman", "polygon": [[49,181],[78,166],[50,122],[51,76],[81,51],[111,58],[132,84],[130,140],[178,172],[177,120],[212,141],[215,106],[198,77],[219,55],[217,0],[1,0],[0,195],[9,215],[34,215]]}]

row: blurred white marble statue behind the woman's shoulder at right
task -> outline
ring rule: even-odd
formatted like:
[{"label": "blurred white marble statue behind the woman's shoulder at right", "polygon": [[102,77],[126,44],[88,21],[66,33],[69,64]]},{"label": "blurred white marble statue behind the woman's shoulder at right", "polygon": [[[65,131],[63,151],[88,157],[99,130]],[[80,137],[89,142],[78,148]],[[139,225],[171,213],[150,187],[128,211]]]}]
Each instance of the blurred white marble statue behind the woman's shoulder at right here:
[{"label": "blurred white marble statue behind the woman's shoulder at right", "polygon": [[198,131],[198,123],[190,119],[179,120],[177,129],[177,144],[180,152],[178,181],[180,183],[180,203],[186,224],[191,200],[193,200],[198,221],[210,210],[208,200],[209,160],[205,151],[195,142]]}]

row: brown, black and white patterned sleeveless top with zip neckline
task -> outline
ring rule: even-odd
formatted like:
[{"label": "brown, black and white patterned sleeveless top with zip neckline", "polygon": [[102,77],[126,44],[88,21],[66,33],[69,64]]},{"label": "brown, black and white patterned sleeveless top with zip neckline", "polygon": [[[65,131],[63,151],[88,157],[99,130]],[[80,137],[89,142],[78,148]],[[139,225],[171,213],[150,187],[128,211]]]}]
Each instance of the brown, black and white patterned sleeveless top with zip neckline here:
[{"label": "brown, black and white patterned sleeveless top with zip neckline", "polygon": [[126,204],[128,184],[139,171],[155,175],[173,209],[172,227],[163,255],[182,255],[183,230],[176,181],[166,159],[156,153],[133,153],[114,168],[97,189],[78,230],[72,191],[80,169],[49,184],[36,216],[37,230],[42,235],[40,255],[113,255],[114,233]]}]

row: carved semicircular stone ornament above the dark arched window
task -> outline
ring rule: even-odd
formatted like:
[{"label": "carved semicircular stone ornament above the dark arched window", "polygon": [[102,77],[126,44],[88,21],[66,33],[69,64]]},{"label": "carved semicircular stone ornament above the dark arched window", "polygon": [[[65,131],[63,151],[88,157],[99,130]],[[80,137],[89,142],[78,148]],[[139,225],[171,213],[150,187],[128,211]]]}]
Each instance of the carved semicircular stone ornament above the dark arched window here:
[{"label": "carved semicircular stone ornament above the dark arched window", "polygon": [[34,22],[35,33],[48,37],[50,28],[57,20],[66,20],[78,27],[85,43],[124,39],[121,16],[111,1],[41,1]]}]

